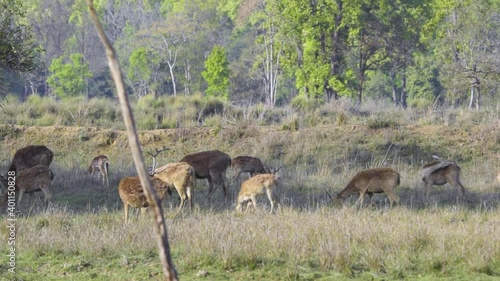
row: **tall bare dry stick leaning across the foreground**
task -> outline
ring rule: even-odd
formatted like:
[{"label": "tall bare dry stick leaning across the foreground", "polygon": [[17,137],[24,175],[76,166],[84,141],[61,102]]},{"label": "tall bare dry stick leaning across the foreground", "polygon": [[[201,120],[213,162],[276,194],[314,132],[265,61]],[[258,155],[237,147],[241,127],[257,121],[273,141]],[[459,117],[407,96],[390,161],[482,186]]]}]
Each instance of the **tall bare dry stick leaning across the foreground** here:
[{"label": "tall bare dry stick leaning across the foreground", "polygon": [[175,267],[170,257],[170,247],[168,245],[168,237],[167,237],[167,226],[165,224],[165,219],[163,217],[163,209],[161,207],[161,201],[156,195],[154,189],[152,188],[149,175],[146,172],[146,165],[144,164],[144,158],[142,156],[141,149],[139,146],[139,140],[137,138],[137,132],[135,130],[135,123],[132,116],[132,110],[130,108],[127,95],[125,93],[125,85],[123,83],[120,66],[118,65],[118,59],[116,57],[115,50],[113,49],[113,46],[106,37],[106,34],[104,33],[99,18],[97,17],[93,1],[92,0],[86,0],[86,1],[87,1],[87,6],[89,7],[90,17],[94,22],[97,34],[99,35],[99,38],[101,39],[101,42],[104,45],[104,48],[106,49],[106,56],[108,58],[108,64],[111,70],[111,75],[113,76],[113,80],[115,81],[116,84],[116,90],[118,93],[118,98],[120,100],[123,119],[125,121],[125,127],[127,128],[128,141],[130,143],[130,148],[132,150],[132,157],[134,158],[137,174],[139,175],[139,179],[141,180],[141,185],[145,187],[144,193],[146,194],[148,203],[154,210],[155,229],[158,238],[158,251],[160,254],[160,260],[163,267],[163,274],[165,275],[166,280],[178,280],[177,272],[175,271]]}]

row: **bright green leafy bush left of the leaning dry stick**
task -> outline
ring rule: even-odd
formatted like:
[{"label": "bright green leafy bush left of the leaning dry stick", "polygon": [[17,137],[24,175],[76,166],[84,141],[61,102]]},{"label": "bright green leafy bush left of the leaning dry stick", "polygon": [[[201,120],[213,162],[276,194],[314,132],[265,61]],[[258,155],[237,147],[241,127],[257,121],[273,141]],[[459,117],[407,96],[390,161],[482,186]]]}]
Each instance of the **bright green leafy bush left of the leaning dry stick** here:
[{"label": "bright green leafy bush left of the leaning dry stick", "polygon": [[61,98],[82,94],[86,87],[86,79],[92,77],[89,65],[84,62],[83,55],[71,54],[70,61],[65,63],[65,57],[54,59],[49,67],[51,75],[47,83],[54,94]]}]

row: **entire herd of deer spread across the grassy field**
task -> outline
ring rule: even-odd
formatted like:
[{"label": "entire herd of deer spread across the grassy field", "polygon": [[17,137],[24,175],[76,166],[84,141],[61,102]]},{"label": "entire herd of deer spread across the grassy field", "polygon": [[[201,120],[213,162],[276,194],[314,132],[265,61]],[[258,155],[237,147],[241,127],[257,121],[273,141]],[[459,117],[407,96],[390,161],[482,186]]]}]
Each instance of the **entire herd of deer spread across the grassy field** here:
[{"label": "entire herd of deer spread across the grassy field", "polygon": [[[241,184],[241,189],[237,198],[236,209],[240,211],[246,203],[248,209],[251,205],[256,208],[256,197],[267,194],[271,203],[271,212],[274,210],[273,191],[279,181],[277,170],[264,166],[259,158],[251,156],[238,156],[231,159],[229,155],[219,150],[203,151],[186,155],[177,163],[169,163],[157,168],[156,156],[163,148],[156,149],[148,154],[153,157],[153,168],[151,169],[151,181],[160,199],[164,199],[167,194],[172,194],[175,188],[180,197],[178,212],[180,212],[186,201],[190,208],[193,205],[194,189],[196,179],[206,179],[208,181],[208,197],[217,189],[222,187],[224,196],[227,195],[227,184],[225,180],[226,170],[232,166],[236,169],[234,179],[237,180],[242,173],[249,173],[250,178]],[[43,145],[31,145],[19,149],[12,160],[9,172],[15,172],[15,190],[18,195],[18,202],[23,194],[42,191],[45,195],[45,203],[48,203],[52,194],[50,184],[54,174],[49,166],[54,154]],[[451,184],[457,189],[457,203],[464,199],[465,189],[460,183],[460,167],[455,161],[445,160],[433,155],[433,162],[424,165],[420,171],[421,179],[424,183],[425,198],[428,200],[429,191],[433,185]],[[102,177],[103,184],[109,186],[108,181],[109,159],[105,155],[98,155],[92,159],[88,172],[94,174],[98,172],[98,177]],[[10,173],[9,173],[10,174]],[[500,182],[500,173],[497,176]],[[8,177],[0,175],[0,183],[4,189],[8,187]],[[342,205],[343,201],[352,194],[358,194],[359,199],[356,204],[363,204],[365,194],[370,197],[373,205],[373,195],[375,193],[386,193],[389,197],[390,205],[399,202],[399,197],[394,193],[394,189],[400,184],[400,175],[391,168],[374,168],[357,173],[347,186],[330,198],[335,205]],[[125,177],[118,184],[118,193],[123,201],[125,219],[128,218],[128,206],[134,208],[146,208],[148,202],[142,189],[138,177]],[[7,202],[8,192],[4,191],[3,202]]]}]

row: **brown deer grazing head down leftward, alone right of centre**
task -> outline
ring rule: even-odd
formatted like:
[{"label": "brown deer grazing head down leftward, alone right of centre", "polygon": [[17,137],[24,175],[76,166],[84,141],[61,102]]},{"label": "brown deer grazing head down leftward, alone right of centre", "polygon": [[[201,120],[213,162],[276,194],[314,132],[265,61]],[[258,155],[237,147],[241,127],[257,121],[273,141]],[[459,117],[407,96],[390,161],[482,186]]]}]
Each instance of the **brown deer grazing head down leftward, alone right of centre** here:
[{"label": "brown deer grazing head down leftward, alone right of centre", "polygon": [[333,198],[335,205],[340,206],[352,194],[359,194],[356,204],[363,205],[365,194],[370,197],[373,206],[375,193],[386,193],[390,206],[399,203],[399,196],[394,194],[394,189],[400,184],[399,173],[391,168],[374,168],[357,173],[347,186]]}]

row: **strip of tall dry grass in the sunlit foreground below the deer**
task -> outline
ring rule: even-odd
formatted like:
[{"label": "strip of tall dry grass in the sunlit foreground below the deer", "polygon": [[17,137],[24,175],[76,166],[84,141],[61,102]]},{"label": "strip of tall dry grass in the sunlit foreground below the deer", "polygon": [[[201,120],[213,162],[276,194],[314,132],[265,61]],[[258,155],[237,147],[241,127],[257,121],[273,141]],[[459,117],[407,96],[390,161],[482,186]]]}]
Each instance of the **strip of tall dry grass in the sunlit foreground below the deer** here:
[{"label": "strip of tall dry grass in the sunlit foreground below the deer", "polygon": [[[349,277],[371,272],[389,279],[417,274],[454,276],[458,269],[460,274],[498,276],[499,218],[498,209],[298,211],[286,207],[275,215],[203,210],[169,220],[168,229],[174,261],[185,279],[198,270],[237,276],[238,272],[273,267],[304,267]],[[54,208],[21,218],[19,225],[19,259],[50,257],[34,262],[42,274],[54,256],[114,260],[155,252],[149,217],[124,224],[120,212],[73,214]],[[5,226],[1,230],[4,239]],[[90,263],[95,268],[106,267]],[[113,266],[116,271],[128,268],[128,264]],[[159,265],[154,268],[159,270]],[[33,268],[21,264],[19,270]],[[125,276],[135,275],[129,272]]]}]

